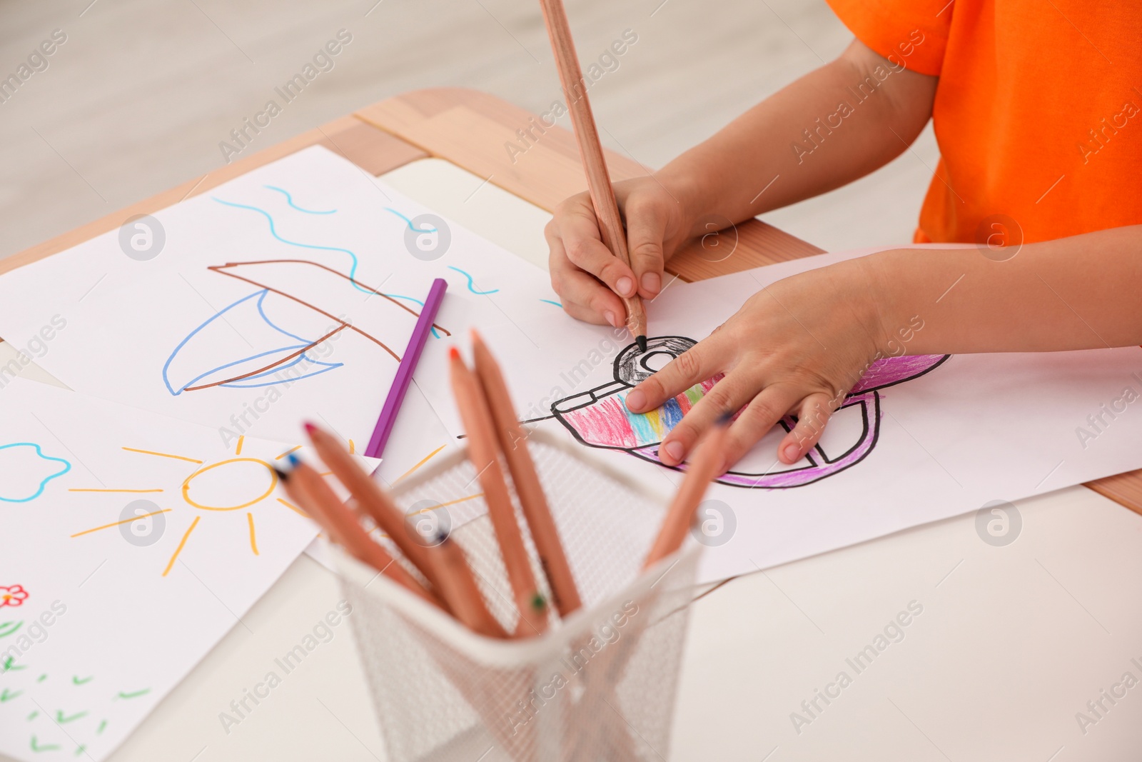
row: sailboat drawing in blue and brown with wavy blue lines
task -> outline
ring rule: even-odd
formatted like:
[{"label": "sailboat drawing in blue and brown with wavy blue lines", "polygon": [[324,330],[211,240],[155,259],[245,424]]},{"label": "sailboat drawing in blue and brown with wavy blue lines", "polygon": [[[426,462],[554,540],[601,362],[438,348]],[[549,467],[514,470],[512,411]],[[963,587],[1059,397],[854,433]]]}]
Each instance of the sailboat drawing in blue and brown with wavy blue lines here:
[{"label": "sailboat drawing in blue and brown with wavy blue lines", "polygon": [[[271,185],[265,187],[284,195],[289,207],[301,214],[332,215],[337,211],[306,209],[293,201],[289,191]],[[423,300],[385,294],[379,288],[362,283],[356,278],[360,262],[351,249],[291,240],[279,232],[278,222],[265,209],[212,198],[225,207],[259,215],[267,223],[270,235],[278,242],[308,251],[329,252],[322,256],[332,256],[338,266],[312,259],[260,259],[208,267],[211,272],[249,283],[257,290],[218,310],[178,342],[162,368],[162,380],[171,395],[214,387],[272,386],[281,383],[282,374],[288,375],[290,382],[327,374],[345,363],[327,362],[317,356],[315,350],[343,331],[360,335],[394,362],[400,362],[397,351],[381,337],[392,332],[392,323],[400,318],[419,316],[419,312],[403,303],[411,302],[423,307]],[[407,216],[387,207],[386,210],[411,226]],[[347,268],[347,272],[339,267]],[[474,294],[494,292],[477,291],[471,274],[460,270],[457,272],[467,278],[468,289]],[[337,316],[345,304],[359,300],[351,300],[354,292],[357,296],[368,295],[365,298],[379,296],[389,310],[372,316],[367,326]],[[451,335],[439,324],[433,324],[432,332],[436,337]],[[402,334],[400,338],[403,343],[407,337]],[[204,361],[206,358],[209,360]]]}]

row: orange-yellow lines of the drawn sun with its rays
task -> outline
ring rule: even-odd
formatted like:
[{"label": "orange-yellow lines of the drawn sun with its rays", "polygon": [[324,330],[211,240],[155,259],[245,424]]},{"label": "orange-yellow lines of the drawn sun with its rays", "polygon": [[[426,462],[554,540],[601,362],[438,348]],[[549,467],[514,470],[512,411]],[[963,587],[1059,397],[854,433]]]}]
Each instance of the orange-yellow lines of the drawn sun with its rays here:
[{"label": "orange-yellow lines of the drawn sun with its rays", "polygon": [[[139,455],[153,456],[153,457],[159,457],[159,458],[174,458],[176,460],[185,460],[187,463],[193,463],[193,464],[196,464],[196,465],[201,466],[201,467],[196,468],[194,471],[194,473],[192,473],[190,476],[187,476],[186,479],[183,480],[183,483],[182,483],[179,490],[182,492],[183,500],[184,500],[184,503],[187,506],[190,506],[194,511],[202,511],[204,513],[202,513],[200,515],[195,515],[194,520],[191,521],[191,526],[186,528],[186,531],[183,534],[183,537],[178,540],[177,547],[175,547],[175,552],[171,554],[170,560],[167,562],[166,569],[162,570],[162,576],[163,577],[166,577],[168,573],[170,573],[170,570],[175,566],[175,561],[178,560],[179,553],[183,552],[183,548],[186,546],[186,542],[191,538],[191,534],[194,531],[194,528],[199,526],[199,521],[202,519],[203,515],[210,515],[211,513],[219,513],[219,512],[222,512],[222,513],[228,513],[231,511],[242,511],[243,508],[252,508],[257,504],[262,503],[263,500],[265,500],[270,496],[272,496],[274,494],[274,490],[278,488],[278,473],[274,471],[274,466],[270,462],[263,460],[260,458],[241,457],[242,456],[242,444],[243,444],[244,441],[246,441],[244,436],[240,436],[239,438],[238,446],[236,446],[235,451],[234,451],[234,456],[235,457],[233,457],[233,458],[226,458],[225,460],[219,460],[217,463],[210,463],[210,464],[206,464],[204,462],[202,462],[202,460],[200,460],[198,458],[188,458],[186,456],[171,455],[169,452],[156,452],[154,450],[140,450],[140,449],[132,448],[132,447],[123,447],[123,448],[121,448],[121,449],[123,449],[123,450],[126,450],[128,452],[137,452]],[[298,450],[300,448],[301,448],[300,444],[298,444],[297,447],[292,447],[292,448],[286,450],[284,452],[275,456],[274,460],[281,460],[281,459],[288,457],[291,452],[293,452],[293,451],[296,451],[296,450]],[[354,451],[353,440],[349,440],[349,452],[352,454],[353,451]],[[195,480],[200,480],[200,478],[203,474],[210,473],[211,471],[215,471],[216,468],[217,470],[223,470],[223,471],[234,471],[234,470],[238,470],[238,468],[249,470],[251,467],[255,468],[255,470],[257,470],[257,471],[262,471],[262,470],[265,471],[266,476],[267,476],[267,483],[266,483],[266,486],[265,486],[264,489],[260,488],[260,487],[256,487],[254,490],[251,490],[251,491],[249,491],[249,492],[247,492],[244,495],[235,496],[230,502],[220,504],[220,505],[207,504],[204,502],[206,498],[195,498],[194,497],[194,482],[195,482]],[[324,475],[324,474],[322,474],[322,475]],[[200,482],[201,482],[201,480],[200,480]],[[135,492],[162,492],[163,490],[162,489],[71,489],[69,491],[71,491],[71,492],[132,492],[132,494],[135,494]],[[292,505],[291,503],[289,503],[287,500],[283,500],[280,497],[275,498],[275,500],[278,503],[280,503],[281,505],[286,506],[287,508],[289,508],[290,511],[293,511],[293,512],[296,512],[296,513],[298,513],[298,514],[300,514],[303,516],[306,515],[305,512],[301,511],[299,507],[297,507],[296,505]],[[103,529],[111,529],[112,527],[119,527],[120,524],[126,524],[126,523],[130,523],[130,522],[134,522],[134,521],[139,521],[139,520],[143,520],[143,519],[147,519],[148,516],[158,515],[160,513],[169,513],[174,508],[162,508],[160,511],[152,511],[150,513],[139,514],[137,516],[131,516],[129,519],[123,519],[122,521],[114,521],[114,522],[112,522],[110,524],[103,524],[100,527],[94,527],[91,529],[85,529],[82,531],[75,532],[74,535],[72,535],[72,537],[81,537],[83,535],[90,535],[91,532],[97,532],[97,531],[100,531]],[[257,537],[257,530],[256,530],[255,523],[254,523],[254,513],[251,511],[247,511],[246,512],[246,520],[247,520],[247,526],[249,527],[249,532],[250,532],[250,552],[254,555],[258,555],[258,537]]]}]

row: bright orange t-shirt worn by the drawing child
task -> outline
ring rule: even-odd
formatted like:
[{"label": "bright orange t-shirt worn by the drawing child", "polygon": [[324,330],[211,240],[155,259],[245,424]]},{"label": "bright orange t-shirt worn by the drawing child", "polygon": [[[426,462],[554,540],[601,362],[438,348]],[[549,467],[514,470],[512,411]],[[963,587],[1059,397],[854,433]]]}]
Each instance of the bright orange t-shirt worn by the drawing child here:
[{"label": "bright orange t-shirt worn by the drawing child", "polygon": [[894,65],[940,78],[917,242],[979,241],[1011,220],[1026,241],[1142,224],[1139,0],[829,5]]}]

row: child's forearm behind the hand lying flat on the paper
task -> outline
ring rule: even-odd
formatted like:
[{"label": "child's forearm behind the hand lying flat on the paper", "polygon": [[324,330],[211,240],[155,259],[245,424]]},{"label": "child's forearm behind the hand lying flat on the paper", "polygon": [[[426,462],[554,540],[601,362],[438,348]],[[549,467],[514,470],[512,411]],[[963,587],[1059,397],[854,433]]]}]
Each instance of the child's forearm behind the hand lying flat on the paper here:
[{"label": "child's forearm behind the hand lying flat on the paper", "polygon": [[[1142,225],[1030,243],[1008,254],[895,249],[864,257],[885,343],[893,342],[890,351],[1052,352],[1142,344]],[[910,330],[918,321],[923,328]]]}]

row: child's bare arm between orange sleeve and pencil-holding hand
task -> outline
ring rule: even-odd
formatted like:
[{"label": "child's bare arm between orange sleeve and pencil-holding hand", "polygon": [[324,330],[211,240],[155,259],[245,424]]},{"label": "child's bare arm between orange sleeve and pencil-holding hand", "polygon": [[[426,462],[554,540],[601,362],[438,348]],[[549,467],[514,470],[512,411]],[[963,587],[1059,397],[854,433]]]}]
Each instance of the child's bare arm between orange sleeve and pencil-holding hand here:
[{"label": "child's bare arm between orange sleeve and pencil-holding hand", "polygon": [[927,123],[936,78],[906,65],[853,42],[657,176],[699,227],[708,215],[737,223],[839,187],[899,155]]}]

